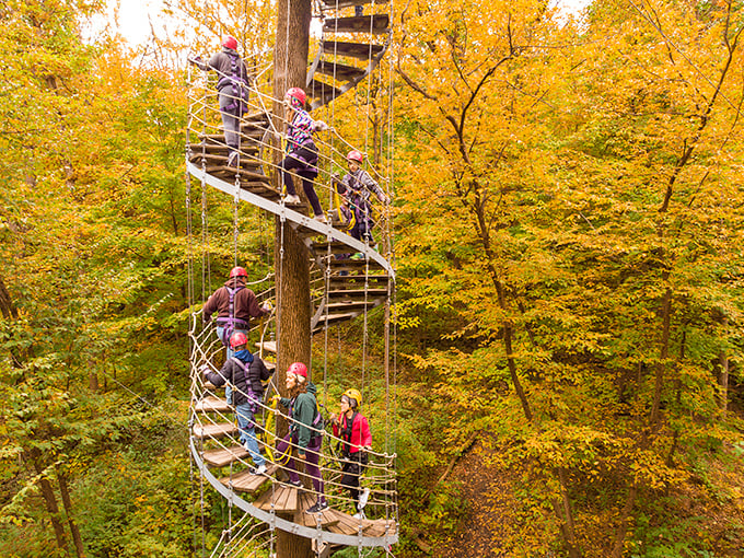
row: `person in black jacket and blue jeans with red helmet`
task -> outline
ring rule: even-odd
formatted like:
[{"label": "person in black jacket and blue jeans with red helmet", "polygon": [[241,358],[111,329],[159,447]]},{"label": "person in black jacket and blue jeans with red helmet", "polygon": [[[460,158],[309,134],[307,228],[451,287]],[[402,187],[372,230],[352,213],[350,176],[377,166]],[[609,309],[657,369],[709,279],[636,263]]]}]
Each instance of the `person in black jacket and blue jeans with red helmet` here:
[{"label": "person in black jacket and blue jeans with red helmet", "polygon": [[234,333],[230,338],[230,345],[235,353],[225,361],[217,374],[210,372],[208,368],[204,370],[204,374],[206,380],[218,387],[225,383],[232,384],[232,400],[237,415],[241,443],[256,466],[252,473],[261,475],[266,473],[266,460],[258,451],[254,416],[264,395],[261,380],[268,380],[271,372],[263,360],[251,353],[247,344],[248,338],[244,333]]}]

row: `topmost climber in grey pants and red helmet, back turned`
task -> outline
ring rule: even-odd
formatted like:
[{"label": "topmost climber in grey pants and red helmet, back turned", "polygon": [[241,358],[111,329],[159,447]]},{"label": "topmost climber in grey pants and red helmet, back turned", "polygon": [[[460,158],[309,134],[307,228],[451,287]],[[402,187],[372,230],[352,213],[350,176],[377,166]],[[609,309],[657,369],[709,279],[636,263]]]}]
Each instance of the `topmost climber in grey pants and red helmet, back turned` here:
[{"label": "topmost climber in grey pants and red helmet, back turned", "polygon": [[241,148],[241,116],[245,112],[248,73],[245,63],[235,50],[237,39],[226,36],[222,40],[222,50],[205,63],[201,57],[189,58],[189,62],[200,70],[214,70],[219,74],[217,91],[219,92],[220,115],[224,128],[224,142],[228,144],[228,166],[237,166]]}]

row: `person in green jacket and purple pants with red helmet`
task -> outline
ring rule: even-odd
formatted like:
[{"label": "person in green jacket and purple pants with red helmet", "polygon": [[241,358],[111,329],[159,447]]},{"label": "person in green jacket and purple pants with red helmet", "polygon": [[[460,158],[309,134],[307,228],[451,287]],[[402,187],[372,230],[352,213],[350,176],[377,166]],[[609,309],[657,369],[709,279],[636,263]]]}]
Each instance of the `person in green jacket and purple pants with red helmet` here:
[{"label": "person in green jacket and purple pants with red helmet", "polygon": [[323,493],[323,474],[321,460],[321,442],[323,441],[323,417],[315,399],[315,384],[307,380],[307,367],[302,362],[293,362],[287,369],[287,390],[290,397],[278,397],[279,403],[289,409],[289,432],[277,444],[279,455],[287,454],[287,469],[290,484],[301,487],[297,463],[292,456],[292,447],[297,447],[298,458],[304,462],[305,473],[313,479],[313,488],[317,495],[314,505],[305,510],[318,513],[328,508]]}]

